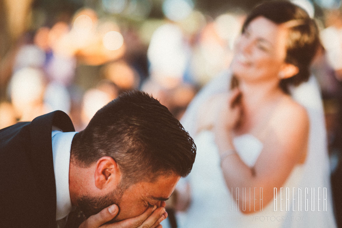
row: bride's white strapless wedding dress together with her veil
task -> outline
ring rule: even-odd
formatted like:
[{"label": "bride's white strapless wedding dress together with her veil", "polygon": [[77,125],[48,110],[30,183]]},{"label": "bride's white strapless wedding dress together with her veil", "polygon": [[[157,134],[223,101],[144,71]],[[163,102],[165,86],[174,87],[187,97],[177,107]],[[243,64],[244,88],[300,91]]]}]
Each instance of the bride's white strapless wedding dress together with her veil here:
[{"label": "bride's white strapless wedding dress together with her veil", "polygon": [[[232,195],[227,189],[219,165],[219,155],[214,143],[213,133],[202,131],[196,132],[196,112],[200,105],[208,97],[227,90],[229,85],[229,73],[225,73],[209,83],[193,100],[186,111],[182,124],[194,137],[197,146],[196,160],[193,170],[186,178],[192,189],[192,202],[185,213],[178,214],[178,223],[181,228],[256,228],[256,227],[336,227],[330,188],[329,159],[327,153],[326,131],[324,125],[323,107],[321,104],[318,85],[314,77],[308,82],[302,83],[299,87],[291,90],[292,97],[303,105],[310,118],[310,137],[307,158],[304,164],[297,165],[292,170],[284,189],[282,190],[282,210],[279,210],[279,200],[277,202],[278,210],[274,211],[274,202],[263,206],[263,210],[255,209],[258,212],[252,214],[243,214],[236,207],[235,200],[232,202]],[[250,167],[258,159],[262,151],[263,144],[253,135],[245,134],[233,139],[234,146],[240,158]],[[238,173],[236,173],[238,175]],[[180,182],[182,183],[182,182]],[[253,187],[251,192],[253,196]],[[286,211],[285,188],[289,188],[289,209]],[[292,188],[294,196],[292,196]],[[298,188],[302,189],[302,209],[298,209]],[[304,199],[304,189],[314,188],[316,193],[311,211],[310,194],[309,199]],[[320,193],[317,194],[319,188]],[[322,192],[326,189],[325,211],[323,211]],[[249,189],[246,189],[249,191]],[[279,191],[278,190],[278,199]],[[242,189],[239,189],[242,191]],[[255,196],[259,199],[260,190],[256,189]],[[292,211],[292,198],[295,199],[294,211]],[[317,199],[320,198],[319,208],[317,210]],[[307,211],[304,208],[304,200],[307,200]],[[247,210],[248,210],[247,205]],[[253,210],[253,209],[252,209]]]}]

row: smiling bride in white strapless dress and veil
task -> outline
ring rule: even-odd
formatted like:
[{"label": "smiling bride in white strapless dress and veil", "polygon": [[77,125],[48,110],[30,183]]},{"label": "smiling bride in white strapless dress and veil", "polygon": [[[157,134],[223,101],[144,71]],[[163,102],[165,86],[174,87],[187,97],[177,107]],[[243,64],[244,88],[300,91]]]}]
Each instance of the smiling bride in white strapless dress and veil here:
[{"label": "smiling bride in white strapless dress and veil", "polygon": [[252,10],[230,71],[182,120],[197,145],[184,227],[336,227],[323,108],[309,77],[318,45],[298,6]]}]

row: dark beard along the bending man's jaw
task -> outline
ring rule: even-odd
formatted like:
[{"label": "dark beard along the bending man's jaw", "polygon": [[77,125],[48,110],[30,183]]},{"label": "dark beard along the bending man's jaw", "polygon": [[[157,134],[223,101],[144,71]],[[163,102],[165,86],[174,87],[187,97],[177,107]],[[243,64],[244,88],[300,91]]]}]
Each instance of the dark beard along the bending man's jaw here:
[{"label": "dark beard along the bending man's jaw", "polygon": [[[120,183],[116,189],[102,197],[81,196],[77,199],[77,207],[88,218],[91,215],[97,214],[107,206],[112,204],[119,205],[123,192],[126,188]],[[118,213],[119,214],[119,213]],[[114,222],[115,219],[112,221]]]}]

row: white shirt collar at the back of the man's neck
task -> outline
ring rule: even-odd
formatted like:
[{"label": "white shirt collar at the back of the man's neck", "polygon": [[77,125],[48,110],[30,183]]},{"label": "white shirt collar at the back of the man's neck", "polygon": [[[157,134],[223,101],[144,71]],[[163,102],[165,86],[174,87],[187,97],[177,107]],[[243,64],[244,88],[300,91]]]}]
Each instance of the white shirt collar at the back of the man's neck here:
[{"label": "white shirt collar at the back of the man's neck", "polygon": [[53,169],[56,181],[56,221],[72,209],[69,192],[69,163],[71,141],[77,132],[52,131]]}]

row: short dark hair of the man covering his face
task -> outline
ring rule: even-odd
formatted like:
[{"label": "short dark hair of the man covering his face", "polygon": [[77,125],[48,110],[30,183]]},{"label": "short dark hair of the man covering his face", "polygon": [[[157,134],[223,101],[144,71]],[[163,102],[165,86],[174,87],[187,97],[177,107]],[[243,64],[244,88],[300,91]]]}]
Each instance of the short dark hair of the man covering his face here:
[{"label": "short dark hair of the man covering his face", "polygon": [[88,167],[112,157],[129,183],[172,172],[185,177],[196,145],[167,107],[145,92],[121,94],[98,110],[71,144],[71,158]]}]

